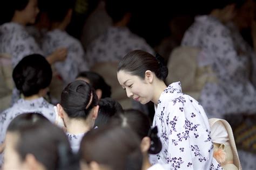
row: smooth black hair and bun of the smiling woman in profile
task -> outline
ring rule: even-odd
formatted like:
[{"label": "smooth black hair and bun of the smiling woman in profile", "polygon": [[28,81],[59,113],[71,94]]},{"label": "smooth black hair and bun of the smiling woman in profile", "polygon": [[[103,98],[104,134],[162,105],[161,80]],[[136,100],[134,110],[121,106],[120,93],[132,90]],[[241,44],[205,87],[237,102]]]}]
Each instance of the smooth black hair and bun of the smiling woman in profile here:
[{"label": "smooth black hair and bun of the smiling woman in profile", "polygon": [[168,75],[168,68],[164,64],[164,59],[157,54],[154,57],[152,54],[142,50],[134,50],[124,56],[119,62],[117,72],[124,70],[137,75],[142,79],[145,78],[146,70],[151,70],[158,79],[165,80]]}]

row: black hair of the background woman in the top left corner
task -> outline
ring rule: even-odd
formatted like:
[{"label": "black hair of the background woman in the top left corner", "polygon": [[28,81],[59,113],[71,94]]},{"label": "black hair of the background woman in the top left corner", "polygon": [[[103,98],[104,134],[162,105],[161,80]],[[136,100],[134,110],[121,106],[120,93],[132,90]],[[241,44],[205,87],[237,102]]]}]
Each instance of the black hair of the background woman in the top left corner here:
[{"label": "black hair of the background woman in the top left corner", "polygon": [[28,5],[29,0],[9,0],[2,1],[0,7],[0,25],[11,22],[12,17],[14,17],[15,11],[22,11]]}]

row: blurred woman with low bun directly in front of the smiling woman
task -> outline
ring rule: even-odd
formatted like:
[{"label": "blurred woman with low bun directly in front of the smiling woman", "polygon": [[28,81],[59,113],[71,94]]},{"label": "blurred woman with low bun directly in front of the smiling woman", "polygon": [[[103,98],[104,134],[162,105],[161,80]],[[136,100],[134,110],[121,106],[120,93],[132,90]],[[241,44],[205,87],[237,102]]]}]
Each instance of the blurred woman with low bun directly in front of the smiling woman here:
[{"label": "blurred woman with low bun directly in front of the smiling woman", "polygon": [[111,123],[117,123],[122,127],[130,128],[138,135],[140,150],[143,153],[142,170],[170,169],[169,165],[155,164],[152,166],[150,164],[149,154],[158,154],[161,151],[162,144],[157,136],[157,126],[151,129],[149,116],[139,110],[128,109],[113,118]]}]

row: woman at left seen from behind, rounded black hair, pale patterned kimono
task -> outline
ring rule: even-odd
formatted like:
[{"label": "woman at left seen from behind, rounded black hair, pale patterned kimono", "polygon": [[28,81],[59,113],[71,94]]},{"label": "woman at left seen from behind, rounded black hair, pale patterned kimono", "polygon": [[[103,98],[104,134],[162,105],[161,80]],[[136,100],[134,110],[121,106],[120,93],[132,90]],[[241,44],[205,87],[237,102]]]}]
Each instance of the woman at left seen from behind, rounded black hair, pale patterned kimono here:
[{"label": "woman at left seen from behind, rounded black hair, pale patterned kimono", "polygon": [[[23,98],[0,114],[0,144],[4,141],[8,125],[18,115],[37,112],[51,122],[56,119],[53,105],[44,99],[52,78],[51,66],[44,56],[33,54],[23,58],[14,68],[12,78]],[[0,155],[0,165],[1,160]]]}]

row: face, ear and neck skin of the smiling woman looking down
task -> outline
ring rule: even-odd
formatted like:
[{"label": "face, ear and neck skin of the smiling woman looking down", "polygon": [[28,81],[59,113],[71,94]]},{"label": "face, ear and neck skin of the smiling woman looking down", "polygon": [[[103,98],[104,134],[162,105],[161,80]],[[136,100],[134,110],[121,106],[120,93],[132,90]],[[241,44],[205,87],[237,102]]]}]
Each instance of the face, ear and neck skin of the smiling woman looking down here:
[{"label": "face, ear and neck skin of the smiling woman looking down", "polygon": [[152,101],[157,105],[161,93],[167,88],[164,81],[158,79],[151,70],[145,71],[144,78],[120,70],[117,73],[117,79],[123,89],[126,90],[127,97],[131,97],[142,104]]}]

